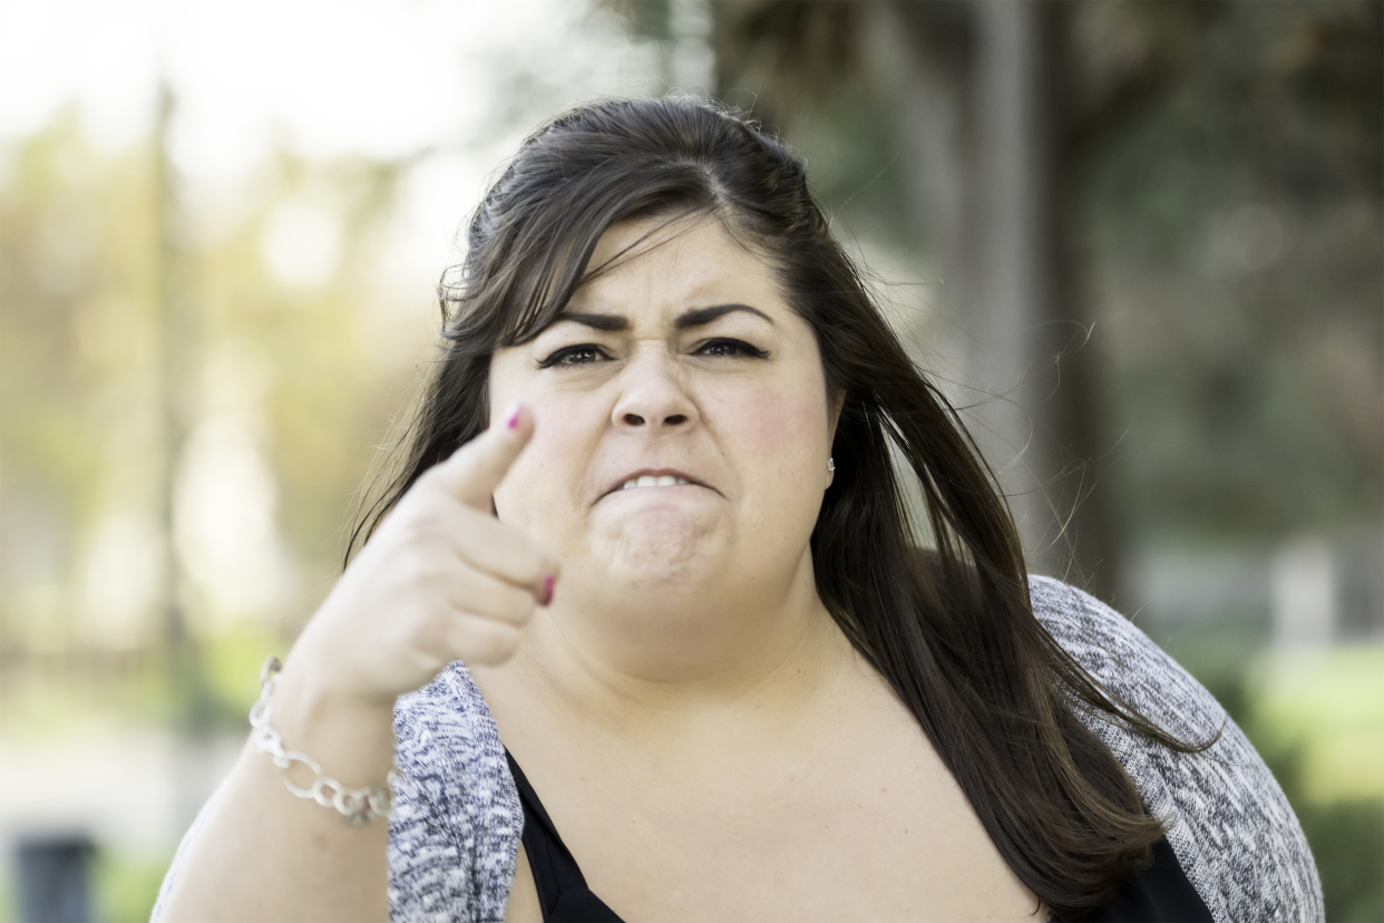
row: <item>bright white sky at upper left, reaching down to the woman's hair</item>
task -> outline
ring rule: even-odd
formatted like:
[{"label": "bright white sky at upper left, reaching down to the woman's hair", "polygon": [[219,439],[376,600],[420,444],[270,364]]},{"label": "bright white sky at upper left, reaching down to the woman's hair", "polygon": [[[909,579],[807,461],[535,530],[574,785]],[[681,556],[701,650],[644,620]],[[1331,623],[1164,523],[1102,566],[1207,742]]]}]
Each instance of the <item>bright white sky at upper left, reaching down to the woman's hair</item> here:
[{"label": "bright white sky at upper left, reaching down to the woman's hair", "polygon": [[179,100],[172,155],[199,198],[234,199],[280,141],[313,158],[432,151],[403,217],[433,278],[484,177],[540,119],[657,87],[653,50],[591,7],[0,0],[0,154],[68,102],[100,147],[147,136],[162,72]]}]

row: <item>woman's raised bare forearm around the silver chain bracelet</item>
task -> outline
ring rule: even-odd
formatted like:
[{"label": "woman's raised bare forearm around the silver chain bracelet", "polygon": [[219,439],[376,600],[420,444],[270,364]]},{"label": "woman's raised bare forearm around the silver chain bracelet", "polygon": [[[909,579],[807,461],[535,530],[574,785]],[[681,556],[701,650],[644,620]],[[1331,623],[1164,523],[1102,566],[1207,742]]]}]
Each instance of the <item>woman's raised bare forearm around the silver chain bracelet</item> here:
[{"label": "woman's raised bare forearm around the silver chain bracelet", "polygon": [[[352,789],[385,780],[394,753],[388,707],[343,704],[292,668],[273,703],[285,749],[310,754]],[[300,786],[310,778],[293,776]],[[271,758],[246,743],[176,870],[159,923],[385,923],[388,841],[386,819],[352,826],[295,797]]]}]

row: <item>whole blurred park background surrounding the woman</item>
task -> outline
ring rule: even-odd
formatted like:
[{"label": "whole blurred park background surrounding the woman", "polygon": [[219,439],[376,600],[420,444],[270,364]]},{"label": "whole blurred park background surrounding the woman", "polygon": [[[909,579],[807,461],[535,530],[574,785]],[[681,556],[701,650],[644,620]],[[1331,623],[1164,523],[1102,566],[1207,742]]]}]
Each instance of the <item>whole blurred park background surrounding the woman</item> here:
[{"label": "whole blurred park background surrounding the woman", "polygon": [[147,919],[486,179],[667,91],[801,151],[1034,569],[1384,920],[1384,1],[4,0],[0,87],[0,922]]}]

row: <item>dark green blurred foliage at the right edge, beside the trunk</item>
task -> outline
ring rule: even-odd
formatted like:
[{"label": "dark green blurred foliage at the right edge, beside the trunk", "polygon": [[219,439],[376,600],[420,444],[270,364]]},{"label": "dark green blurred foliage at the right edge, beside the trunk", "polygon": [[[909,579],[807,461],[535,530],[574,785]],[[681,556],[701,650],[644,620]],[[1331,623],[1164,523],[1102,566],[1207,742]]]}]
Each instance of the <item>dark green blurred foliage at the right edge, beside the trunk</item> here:
[{"label": "dark green blurred foliage at the right edge, beside the trunk", "polygon": [[1228,4],[1093,165],[1131,423],[1117,500],[1146,534],[1272,541],[1384,513],[1381,17]]}]

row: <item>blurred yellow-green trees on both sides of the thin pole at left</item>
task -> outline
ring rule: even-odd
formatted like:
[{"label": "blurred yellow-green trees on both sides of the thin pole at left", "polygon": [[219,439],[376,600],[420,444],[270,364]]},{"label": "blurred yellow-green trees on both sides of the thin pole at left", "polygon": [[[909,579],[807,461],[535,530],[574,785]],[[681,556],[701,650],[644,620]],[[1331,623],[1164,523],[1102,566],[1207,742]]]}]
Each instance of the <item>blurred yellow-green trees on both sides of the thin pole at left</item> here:
[{"label": "blurred yellow-green trees on both sides of the thin pole at left", "polygon": [[[346,501],[379,421],[401,401],[392,379],[421,345],[422,331],[390,314],[399,291],[385,278],[404,165],[285,152],[238,190],[184,185],[161,219],[156,147],[95,151],[69,111],[4,152],[0,652],[10,659],[155,652],[167,573],[159,511],[173,501],[162,515],[188,567],[192,631],[249,630],[274,646],[296,634],[338,569]],[[170,414],[187,439],[165,459],[167,329]],[[166,468],[172,500],[161,500]]]}]

